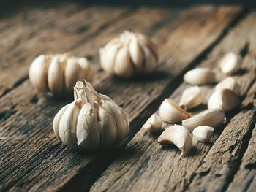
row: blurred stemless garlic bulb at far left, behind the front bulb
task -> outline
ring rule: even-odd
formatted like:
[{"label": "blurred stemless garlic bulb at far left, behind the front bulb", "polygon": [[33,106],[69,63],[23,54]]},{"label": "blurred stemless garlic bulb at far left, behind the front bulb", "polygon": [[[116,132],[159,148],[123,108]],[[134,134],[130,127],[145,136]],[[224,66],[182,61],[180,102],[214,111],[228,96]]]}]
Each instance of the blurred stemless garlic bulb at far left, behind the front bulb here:
[{"label": "blurred stemless garlic bulb at far left, behind the front bulb", "polygon": [[67,53],[39,55],[29,68],[29,79],[38,91],[54,96],[72,93],[75,82],[91,82],[94,70],[86,58],[75,58]]}]

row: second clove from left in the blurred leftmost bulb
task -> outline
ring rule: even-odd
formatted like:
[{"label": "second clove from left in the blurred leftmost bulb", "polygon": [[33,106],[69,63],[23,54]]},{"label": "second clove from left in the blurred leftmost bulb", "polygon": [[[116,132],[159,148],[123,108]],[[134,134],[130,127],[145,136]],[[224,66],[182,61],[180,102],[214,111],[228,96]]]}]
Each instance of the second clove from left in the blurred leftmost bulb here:
[{"label": "second clove from left in the blurred leftmost bulb", "polygon": [[59,55],[53,57],[48,69],[48,85],[54,95],[62,93],[64,89],[64,71],[59,62]]}]

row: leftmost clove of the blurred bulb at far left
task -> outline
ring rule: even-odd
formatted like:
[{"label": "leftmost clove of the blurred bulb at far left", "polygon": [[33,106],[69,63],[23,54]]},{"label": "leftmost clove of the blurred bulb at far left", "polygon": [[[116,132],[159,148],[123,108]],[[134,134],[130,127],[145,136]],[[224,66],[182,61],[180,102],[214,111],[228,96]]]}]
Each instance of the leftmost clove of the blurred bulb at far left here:
[{"label": "leftmost clove of the blurred bulb at far left", "polygon": [[42,92],[48,91],[47,69],[48,63],[45,55],[39,55],[35,58],[29,68],[29,79],[31,83]]}]

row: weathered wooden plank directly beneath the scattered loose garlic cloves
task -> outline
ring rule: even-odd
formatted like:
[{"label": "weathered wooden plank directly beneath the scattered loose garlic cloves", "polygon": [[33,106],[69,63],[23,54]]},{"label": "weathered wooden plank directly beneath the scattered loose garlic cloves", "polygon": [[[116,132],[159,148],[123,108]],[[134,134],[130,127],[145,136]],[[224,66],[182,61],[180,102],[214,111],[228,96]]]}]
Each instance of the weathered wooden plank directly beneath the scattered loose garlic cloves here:
[{"label": "weathered wooden plank directly beneath the scattered loose garlic cloves", "polygon": [[[203,61],[202,64],[203,66],[214,68],[220,56],[230,50],[236,53],[243,50],[242,55],[244,56],[247,47],[245,46],[246,42],[249,42],[249,52],[244,58],[241,73],[236,74],[236,79],[241,85],[241,93],[243,95],[246,94],[255,80],[256,47],[254,45],[255,37],[252,35],[256,27],[256,25],[252,26],[252,21],[255,20],[255,17],[255,14],[249,15],[236,28],[231,30],[230,34],[227,34],[227,37],[207,55],[206,61]],[[248,36],[245,37],[244,33]],[[223,77],[218,75],[218,78]],[[182,91],[187,87],[188,85],[182,83],[171,97],[178,101]],[[203,91],[209,95],[211,87],[203,86]],[[217,131],[213,138],[214,145],[213,143],[197,143],[195,149],[187,158],[180,159],[179,152],[173,147],[162,149],[157,145],[158,135],[144,136],[143,131],[139,131],[129,142],[124,153],[94,183],[91,191],[221,191],[222,184],[227,182],[225,177],[229,177],[230,172],[223,173],[221,177],[214,177],[214,175],[209,174],[208,178],[212,180],[204,180],[204,178],[208,174],[207,171],[217,171],[217,167],[212,166],[215,162],[219,162],[218,159],[222,159],[219,158],[217,151],[225,149],[228,152],[232,148],[241,147],[239,142],[243,142],[243,137],[248,134],[254,118],[254,110],[246,108],[246,105],[252,101],[250,94],[242,105],[242,111],[232,118],[224,129],[225,131],[223,133],[222,129]],[[199,107],[193,112],[197,113],[205,108]],[[230,115],[234,115],[236,112],[231,112],[232,114]],[[230,115],[228,116],[230,117]],[[219,137],[220,134],[221,136]],[[233,142],[228,142],[230,135],[234,136]],[[212,148],[211,145],[213,145]],[[211,153],[212,150],[216,152],[217,158],[211,159],[214,156],[214,153]],[[235,164],[236,159],[232,159],[231,162]],[[201,168],[202,164],[207,164],[208,169]],[[199,167],[200,169],[198,169]],[[222,165],[218,167],[221,168]],[[190,188],[193,178],[197,183],[192,183]]]}]

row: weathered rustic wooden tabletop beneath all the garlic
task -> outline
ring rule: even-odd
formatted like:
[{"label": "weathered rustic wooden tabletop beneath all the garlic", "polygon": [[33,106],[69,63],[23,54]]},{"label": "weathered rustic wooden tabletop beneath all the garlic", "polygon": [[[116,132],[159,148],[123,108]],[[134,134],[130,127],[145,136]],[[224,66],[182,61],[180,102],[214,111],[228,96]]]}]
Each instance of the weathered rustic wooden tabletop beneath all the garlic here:
[{"label": "weathered rustic wooden tabletop beneath all the garlic", "polygon": [[[107,6],[44,2],[1,7],[0,191],[255,191],[256,11],[234,5]],[[159,69],[148,78],[120,80],[99,67],[99,47],[124,30],[159,45]],[[241,107],[227,113],[212,142],[197,142],[186,158],[162,148],[143,123],[166,97],[178,101],[183,74],[217,69],[233,51],[243,58],[234,77]],[[79,153],[56,139],[53,117],[72,101],[46,98],[28,79],[42,53],[69,52],[91,59],[93,85],[129,113],[128,137],[101,153]],[[212,86],[203,86],[211,93]],[[204,110],[206,106],[197,110]]]}]

